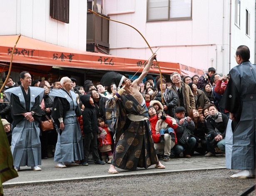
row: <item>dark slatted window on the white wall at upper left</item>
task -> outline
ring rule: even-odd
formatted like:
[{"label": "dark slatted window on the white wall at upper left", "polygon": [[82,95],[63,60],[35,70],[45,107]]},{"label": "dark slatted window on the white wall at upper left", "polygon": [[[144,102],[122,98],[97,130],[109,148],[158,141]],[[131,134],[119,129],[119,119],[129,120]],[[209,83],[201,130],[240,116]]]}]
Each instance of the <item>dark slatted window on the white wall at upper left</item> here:
[{"label": "dark slatted window on the white wall at upper left", "polygon": [[61,22],[70,22],[70,0],[50,0],[50,16]]}]

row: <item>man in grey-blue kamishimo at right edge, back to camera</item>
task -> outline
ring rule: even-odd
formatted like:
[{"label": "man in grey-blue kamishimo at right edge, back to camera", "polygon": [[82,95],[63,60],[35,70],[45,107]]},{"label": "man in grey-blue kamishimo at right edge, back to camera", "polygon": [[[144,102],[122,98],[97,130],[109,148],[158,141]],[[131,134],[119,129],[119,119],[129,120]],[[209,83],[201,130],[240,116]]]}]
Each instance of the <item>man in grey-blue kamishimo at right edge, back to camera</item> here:
[{"label": "man in grey-blue kamishimo at right edge, back to camera", "polygon": [[226,167],[242,169],[231,178],[246,179],[255,176],[256,66],[249,61],[247,46],[239,46],[235,58],[239,65],[230,70],[221,99],[231,119],[226,130]]}]

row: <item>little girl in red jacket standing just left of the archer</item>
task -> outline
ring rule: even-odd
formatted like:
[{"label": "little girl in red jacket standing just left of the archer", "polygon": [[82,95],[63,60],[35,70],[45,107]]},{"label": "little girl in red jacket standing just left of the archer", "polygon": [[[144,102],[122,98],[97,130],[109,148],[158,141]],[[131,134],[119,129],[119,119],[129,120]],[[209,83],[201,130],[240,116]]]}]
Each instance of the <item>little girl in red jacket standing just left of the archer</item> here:
[{"label": "little girl in red jacket standing just left of the archer", "polygon": [[109,133],[109,128],[105,127],[105,122],[102,118],[98,118],[98,126],[99,126],[99,133],[97,138],[99,140],[99,151],[101,152],[102,161],[107,162],[107,155],[109,161],[107,163],[111,163],[112,161],[112,140],[111,135]]}]

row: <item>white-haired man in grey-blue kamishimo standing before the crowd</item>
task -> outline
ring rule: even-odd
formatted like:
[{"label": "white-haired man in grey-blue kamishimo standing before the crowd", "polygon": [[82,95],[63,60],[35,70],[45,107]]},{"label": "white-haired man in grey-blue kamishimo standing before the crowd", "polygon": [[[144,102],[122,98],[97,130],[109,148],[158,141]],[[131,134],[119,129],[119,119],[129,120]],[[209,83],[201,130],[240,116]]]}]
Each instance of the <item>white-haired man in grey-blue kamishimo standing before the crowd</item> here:
[{"label": "white-haired man in grey-blue kamishimo standing before the crowd", "polygon": [[72,83],[69,77],[62,77],[60,80],[62,89],[49,93],[53,101],[52,118],[55,119],[58,127],[58,139],[54,154],[55,167],[65,168],[77,166],[77,160],[84,157],[82,132],[77,117],[82,111],[77,104],[76,94],[72,91]]}]

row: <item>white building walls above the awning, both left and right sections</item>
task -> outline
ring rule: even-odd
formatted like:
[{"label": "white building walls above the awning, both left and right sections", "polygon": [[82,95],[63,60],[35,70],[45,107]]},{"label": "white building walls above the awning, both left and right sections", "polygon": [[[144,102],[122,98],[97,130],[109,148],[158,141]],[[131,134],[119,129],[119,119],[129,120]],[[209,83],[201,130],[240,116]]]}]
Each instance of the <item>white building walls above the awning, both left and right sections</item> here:
[{"label": "white building walls above the awning, both left and right sections", "polygon": [[[92,1],[92,0],[91,0]],[[157,59],[227,74],[236,65],[239,45],[251,50],[255,63],[255,0],[97,0],[110,19],[137,28]],[[50,17],[50,0],[0,2],[0,35],[22,34],[86,51],[87,1],[69,1],[69,23]],[[149,59],[152,55],[137,31],[109,23],[109,53]]]}]

